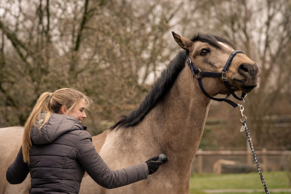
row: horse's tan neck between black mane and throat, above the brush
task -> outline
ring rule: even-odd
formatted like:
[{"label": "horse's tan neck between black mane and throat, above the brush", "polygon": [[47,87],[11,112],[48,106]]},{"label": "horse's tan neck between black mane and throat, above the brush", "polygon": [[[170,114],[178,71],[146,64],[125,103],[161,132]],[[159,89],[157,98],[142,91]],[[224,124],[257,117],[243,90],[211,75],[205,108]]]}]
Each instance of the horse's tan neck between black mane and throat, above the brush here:
[{"label": "horse's tan neck between black mane and throat, above the brush", "polygon": [[[189,68],[184,68],[168,94],[140,124],[152,144],[172,160],[187,155],[191,163],[202,138],[210,99],[199,89]],[[191,161],[190,161],[191,160]],[[178,162],[178,161],[177,161]]]}]

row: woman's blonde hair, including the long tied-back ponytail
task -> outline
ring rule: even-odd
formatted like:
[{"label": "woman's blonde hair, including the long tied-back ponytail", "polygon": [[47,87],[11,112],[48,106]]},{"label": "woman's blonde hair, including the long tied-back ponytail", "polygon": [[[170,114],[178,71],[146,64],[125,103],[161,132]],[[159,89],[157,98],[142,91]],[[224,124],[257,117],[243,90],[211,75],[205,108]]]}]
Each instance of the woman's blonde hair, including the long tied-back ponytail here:
[{"label": "woman's blonde hair, including the long tied-back ponytail", "polygon": [[[63,105],[65,105],[67,110],[66,114],[70,113],[72,109],[80,103],[81,99],[85,100],[85,108],[88,108],[92,100],[81,92],[70,88],[62,88],[54,93],[45,92],[37,99],[36,104],[24,125],[22,138],[22,154],[24,162],[30,163],[29,153],[32,147],[32,127],[37,127],[40,131],[40,129],[48,122],[51,113],[61,113]],[[39,122],[41,120],[41,112],[46,113],[44,122]]]}]

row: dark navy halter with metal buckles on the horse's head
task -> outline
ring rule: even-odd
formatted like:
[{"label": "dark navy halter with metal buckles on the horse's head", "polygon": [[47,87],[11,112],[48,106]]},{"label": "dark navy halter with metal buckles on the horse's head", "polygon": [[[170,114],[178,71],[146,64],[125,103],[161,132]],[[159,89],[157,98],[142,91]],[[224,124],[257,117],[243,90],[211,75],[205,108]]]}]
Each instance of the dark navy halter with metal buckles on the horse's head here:
[{"label": "dark navy halter with metal buckles on the horse's head", "polygon": [[[246,93],[242,92],[242,96],[238,97],[236,96],[236,94],[233,92],[233,90],[231,89],[229,83],[227,82],[227,69],[229,67],[229,65],[231,64],[231,61],[233,59],[233,57],[238,54],[238,53],[242,53],[244,54],[241,50],[235,50],[233,51],[227,62],[226,65],[223,67],[222,71],[220,73],[216,73],[216,72],[203,72],[200,69],[197,69],[194,67],[193,63],[191,62],[191,59],[189,58],[189,56],[187,56],[187,64],[188,67],[191,69],[192,73],[193,73],[193,79],[195,79],[195,76],[198,80],[199,83],[199,87],[201,89],[201,91],[203,92],[203,94],[207,97],[209,97],[212,100],[216,100],[216,101],[225,101],[228,104],[230,104],[231,106],[233,106],[234,108],[237,107],[237,103],[231,101],[230,99],[226,99],[228,98],[230,95],[232,95],[233,97],[235,97],[238,100],[243,100],[244,97],[246,97]],[[199,74],[199,75],[198,75]],[[209,94],[207,94],[207,92],[204,90],[203,84],[202,84],[202,80],[201,80],[201,76],[205,76],[205,77],[215,77],[215,78],[221,78],[222,81],[225,83],[227,90],[230,92],[230,94],[226,95],[225,98],[216,98],[216,97],[211,97]]]}]

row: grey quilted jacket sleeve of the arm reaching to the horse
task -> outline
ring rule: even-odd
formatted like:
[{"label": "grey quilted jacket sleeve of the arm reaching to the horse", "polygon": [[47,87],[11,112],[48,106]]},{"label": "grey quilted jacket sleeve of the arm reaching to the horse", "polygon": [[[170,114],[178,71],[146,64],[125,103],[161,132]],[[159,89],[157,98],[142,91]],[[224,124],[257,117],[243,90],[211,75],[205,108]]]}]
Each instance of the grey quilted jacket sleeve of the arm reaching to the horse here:
[{"label": "grey quilted jacket sleeve of the arm reaching to the horse", "polygon": [[107,189],[125,186],[146,179],[148,176],[145,162],[119,170],[110,170],[97,153],[91,135],[87,131],[82,131],[77,139],[76,152],[79,162],[88,175],[97,184]]}]

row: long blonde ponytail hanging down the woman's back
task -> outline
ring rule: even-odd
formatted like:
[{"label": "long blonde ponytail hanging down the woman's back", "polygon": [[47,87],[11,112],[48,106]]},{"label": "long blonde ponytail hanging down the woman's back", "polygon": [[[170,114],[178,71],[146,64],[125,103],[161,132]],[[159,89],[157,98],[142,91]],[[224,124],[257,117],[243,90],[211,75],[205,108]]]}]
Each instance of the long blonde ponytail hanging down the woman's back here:
[{"label": "long blonde ponytail hanging down the woman's back", "polygon": [[[48,108],[48,105],[46,103],[47,99],[50,98],[50,93],[45,92],[43,93],[36,101],[36,104],[34,108],[32,109],[32,112],[30,113],[25,125],[24,125],[24,133],[22,138],[22,155],[23,155],[23,161],[26,163],[30,163],[30,157],[29,153],[32,147],[32,141],[31,141],[31,129],[35,126],[36,120],[40,120],[40,113],[41,111],[44,111],[46,114],[46,117],[44,119],[44,122],[38,122],[39,126],[37,127],[39,130],[42,128],[42,126],[48,122],[49,116],[51,111]],[[42,123],[42,124],[41,124]]]}]

